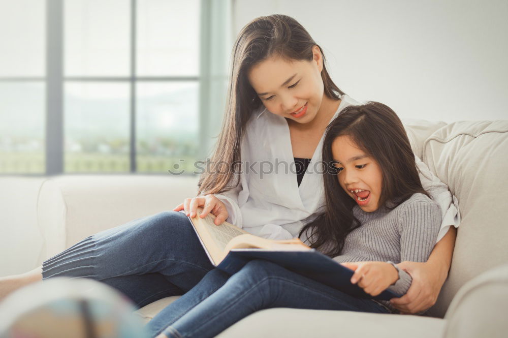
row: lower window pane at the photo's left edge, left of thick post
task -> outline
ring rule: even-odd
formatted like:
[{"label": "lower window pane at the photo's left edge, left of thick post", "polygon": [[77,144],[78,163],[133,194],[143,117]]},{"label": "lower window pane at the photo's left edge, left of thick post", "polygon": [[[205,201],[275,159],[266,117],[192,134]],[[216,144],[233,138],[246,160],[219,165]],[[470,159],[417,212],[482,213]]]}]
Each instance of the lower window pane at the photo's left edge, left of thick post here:
[{"label": "lower window pane at the photo's left edge, left of thick post", "polygon": [[0,173],[44,173],[42,82],[0,82]]}]

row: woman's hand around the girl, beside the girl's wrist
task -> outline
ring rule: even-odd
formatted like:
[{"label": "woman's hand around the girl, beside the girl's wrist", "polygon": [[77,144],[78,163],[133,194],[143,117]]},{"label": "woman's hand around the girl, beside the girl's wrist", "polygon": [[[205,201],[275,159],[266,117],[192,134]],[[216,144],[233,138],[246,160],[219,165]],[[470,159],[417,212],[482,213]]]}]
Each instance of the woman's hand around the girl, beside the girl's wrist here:
[{"label": "woman's hand around the girl, beside the girl's wrist", "polygon": [[393,307],[404,314],[416,314],[434,305],[447,275],[436,273],[430,263],[404,261],[397,266],[411,275],[412,282],[405,295],[390,299]]}]

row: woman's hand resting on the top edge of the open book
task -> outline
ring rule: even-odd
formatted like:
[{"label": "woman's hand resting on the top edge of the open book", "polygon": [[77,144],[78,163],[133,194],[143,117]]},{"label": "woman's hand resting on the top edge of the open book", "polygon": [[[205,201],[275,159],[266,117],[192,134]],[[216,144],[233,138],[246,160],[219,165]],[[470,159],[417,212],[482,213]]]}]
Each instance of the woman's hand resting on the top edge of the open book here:
[{"label": "woman's hand resting on the top edge of the open book", "polygon": [[194,198],[186,198],[182,204],[177,205],[173,211],[185,210],[185,214],[191,218],[196,217],[196,210],[199,206],[203,207],[200,214],[204,218],[209,212],[215,216],[215,225],[222,224],[228,218],[226,205],[214,195],[204,195]]}]

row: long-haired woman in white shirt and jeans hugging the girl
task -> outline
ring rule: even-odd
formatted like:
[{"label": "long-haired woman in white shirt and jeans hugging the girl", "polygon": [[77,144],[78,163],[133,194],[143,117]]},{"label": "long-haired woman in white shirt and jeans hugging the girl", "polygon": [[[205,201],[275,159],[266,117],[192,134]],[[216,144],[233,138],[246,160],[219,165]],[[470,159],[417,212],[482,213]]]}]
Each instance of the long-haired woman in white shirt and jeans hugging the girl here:
[{"label": "long-haired woman in white shirt and jeans hugging the girl", "polygon": [[[331,80],[322,48],[296,20],[284,15],[261,17],[242,29],[233,49],[228,95],[211,171],[201,177],[198,197],[185,199],[174,211],[88,236],[33,271],[0,279],[0,298],[53,276],[102,281],[139,308],[182,295],[209,271],[219,274],[185,214],[176,212],[194,215],[198,206],[204,207],[203,217],[212,212],[217,224],[228,220],[266,238],[298,236],[303,221],[325,203],[324,193],[316,190],[323,187],[322,175],[311,170],[321,161],[324,131],[342,109],[356,102]],[[308,165],[305,174],[287,170],[295,161]],[[266,166],[262,172],[256,168],[261,162],[274,169],[261,175],[266,172]],[[230,170],[225,171],[224,164]],[[429,172],[424,164],[418,166]],[[440,240],[427,262],[398,264],[413,281],[405,296],[392,301],[408,313],[433,305],[451,263],[455,231],[448,228],[458,225],[457,210],[446,186],[432,194],[442,206]],[[371,305],[368,302],[369,309]]]}]

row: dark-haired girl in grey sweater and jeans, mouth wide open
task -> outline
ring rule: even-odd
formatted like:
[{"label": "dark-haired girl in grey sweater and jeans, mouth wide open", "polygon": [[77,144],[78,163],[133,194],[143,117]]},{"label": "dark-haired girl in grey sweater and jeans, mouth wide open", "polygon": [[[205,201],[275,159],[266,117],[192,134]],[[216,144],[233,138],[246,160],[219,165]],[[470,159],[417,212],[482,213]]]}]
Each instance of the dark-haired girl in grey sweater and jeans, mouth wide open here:
[{"label": "dark-haired girl in grey sweater and jeans, mouth wide open", "polygon": [[[389,289],[404,294],[411,276],[394,262],[428,259],[441,212],[421,185],[401,121],[377,102],[346,107],[327,128],[322,158],[336,170],[325,172],[325,208],[300,236],[354,269],[351,282],[366,293],[376,296]],[[389,301],[355,298],[255,260],[231,277],[211,270],[148,328],[153,336],[163,330],[161,338],[213,337],[269,308],[398,313]]]}]

